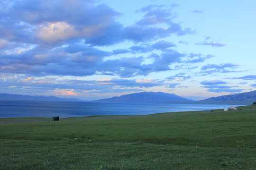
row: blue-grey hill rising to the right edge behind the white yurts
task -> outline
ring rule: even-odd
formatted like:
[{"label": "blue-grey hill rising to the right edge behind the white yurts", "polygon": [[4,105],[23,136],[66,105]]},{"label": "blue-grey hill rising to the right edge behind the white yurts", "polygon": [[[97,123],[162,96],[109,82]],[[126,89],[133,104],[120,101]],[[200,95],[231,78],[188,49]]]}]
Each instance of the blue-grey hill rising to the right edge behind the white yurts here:
[{"label": "blue-grey hill rising to the right edge behind the white yurts", "polygon": [[256,102],[256,90],[246,93],[229,94],[219,97],[211,97],[205,100],[198,101],[198,103],[210,104],[245,104],[251,105]]}]

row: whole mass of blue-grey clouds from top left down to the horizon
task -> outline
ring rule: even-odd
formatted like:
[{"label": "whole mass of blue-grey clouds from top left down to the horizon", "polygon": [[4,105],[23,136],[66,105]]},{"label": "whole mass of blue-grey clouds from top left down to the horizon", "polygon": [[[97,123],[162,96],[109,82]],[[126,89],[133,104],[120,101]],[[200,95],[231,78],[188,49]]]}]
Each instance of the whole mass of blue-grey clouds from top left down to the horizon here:
[{"label": "whole mass of blue-grey clouds from top left down to the horizon", "polygon": [[[0,5],[0,72],[5,75],[0,78],[0,90],[4,92],[15,89],[17,93],[80,95],[155,86],[175,88],[178,82],[130,77],[170,71],[175,63],[193,69],[197,66],[189,68],[186,63],[210,58],[173,50],[175,44],[164,39],[194,33],[174,22],[170,6],[142,8],[143,17],[125,25],[117,20],[123,14],[94,0],[21,0],[9,4],[4,8]],[[73,79],[93,75],[101,79]],[[191,77],[179,73],[174,80]]]}]

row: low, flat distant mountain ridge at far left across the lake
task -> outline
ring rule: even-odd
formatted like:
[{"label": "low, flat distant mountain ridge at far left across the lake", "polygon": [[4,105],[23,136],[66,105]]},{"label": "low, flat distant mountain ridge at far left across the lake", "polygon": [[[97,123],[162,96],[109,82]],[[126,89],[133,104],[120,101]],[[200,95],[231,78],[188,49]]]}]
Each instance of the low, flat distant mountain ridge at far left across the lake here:
[{"label": "low, flat distant mountain ridge at far left across the lake", "polygon": [[0,93],[0,100],[31,100],[31,101],[52,101],[52,102],[82,102],[75,98],[59,98],[55,96],[31,96],[31,95],[21,95],[21,94],[7,94]]}]

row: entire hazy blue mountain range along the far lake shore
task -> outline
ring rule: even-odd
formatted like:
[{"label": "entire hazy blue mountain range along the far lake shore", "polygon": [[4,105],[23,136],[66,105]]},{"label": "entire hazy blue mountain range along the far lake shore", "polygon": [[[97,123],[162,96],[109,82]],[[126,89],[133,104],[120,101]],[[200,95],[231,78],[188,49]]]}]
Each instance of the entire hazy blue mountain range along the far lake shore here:
[{"label": "entire hazy blue mountain range along the far lake shore", "polygon": [[176,94],[163,92],[140,92],[121,95],[95,101],[82,101],[76,98],[58,98],[55,96],[30,96],[20,94],[0,93],[0,100],[31,100],[31,101],[58,101],[58,102],[140,102],[140,103],[193,103],[193,104],[238,104],[249,105],[256,102],[256,90],[246,93],[229,94],[211,97],[201,101],[193,101]]}]

